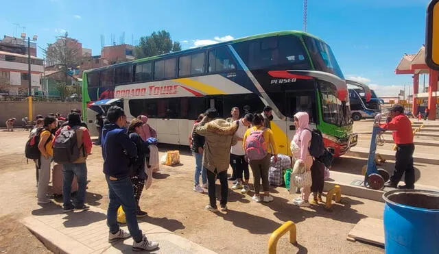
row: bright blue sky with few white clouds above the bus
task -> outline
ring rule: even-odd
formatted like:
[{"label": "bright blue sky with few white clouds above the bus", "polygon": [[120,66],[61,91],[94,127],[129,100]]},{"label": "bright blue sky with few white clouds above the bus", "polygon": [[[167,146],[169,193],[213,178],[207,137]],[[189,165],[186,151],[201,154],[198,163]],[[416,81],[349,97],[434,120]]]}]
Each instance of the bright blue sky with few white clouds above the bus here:
[{"label": "bright blue sky with few white clouds above the bus", "polygon": [[[104,45],[135,45],[141,36],[165,29],[189,49],[303,29],[302,0],[0,1],[0,36],[25,31],[38,35],[44,48],[68,31],[93,55],[100,54],[102,36]],[[417,53],[425,43],[428,1],[308,0],[308,32],[331,46],[346,77],[366,82],[379,96],[396,95],[404,86],[408,93],[412,75],[394,70],[404,53]]]}]

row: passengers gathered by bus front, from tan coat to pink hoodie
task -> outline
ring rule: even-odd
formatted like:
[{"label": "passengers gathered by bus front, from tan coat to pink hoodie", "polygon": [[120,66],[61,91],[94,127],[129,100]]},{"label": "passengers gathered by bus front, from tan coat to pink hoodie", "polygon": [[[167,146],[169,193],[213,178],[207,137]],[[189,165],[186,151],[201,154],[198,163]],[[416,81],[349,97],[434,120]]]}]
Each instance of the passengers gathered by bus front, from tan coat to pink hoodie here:
[{"label": "passengers gathered by bus front, from tan coat to pink hoodie", "polygon": [[[271,202],[269,170],[270,159],[278,160],[277,145],[270,128],[272,108],[266,106],[261,114],[246,114],[239,118],[239,108],[233,107],[231,117],[224,120],[219,118],[215,109],[206,110],[198,117],[191,131],[190,144],[195,158],[195,174],[193,191],[209,194],[209,205],[205,209],[217,212],[215,181],[221,184],[221,200],[219,205],[224,212],[227,210],[228,181],[233,181],[232,190],[240,190],[242,194],[250,191],[249,166],[253,174],[255,202]],[[298,112],[294,116],[296,134],[291,143],[292,155],[306,170],[312,173],[312,184],[303,186],[302,194],[294,199],[298,206],[309,205],[309,196],[313,192],[313,202],[322,201],[324,184],[324,165],[311,157],[309,145],[311,131],[309,130],[309,115]],[[229,165],[233,169],[227,179]],[[200,185],[200,175],[202,185]],[[262,186],[261,186],[262,181]],[[262,187],[262,188],[261,188]],[[263,191],[263,194],[261,194]]]}]

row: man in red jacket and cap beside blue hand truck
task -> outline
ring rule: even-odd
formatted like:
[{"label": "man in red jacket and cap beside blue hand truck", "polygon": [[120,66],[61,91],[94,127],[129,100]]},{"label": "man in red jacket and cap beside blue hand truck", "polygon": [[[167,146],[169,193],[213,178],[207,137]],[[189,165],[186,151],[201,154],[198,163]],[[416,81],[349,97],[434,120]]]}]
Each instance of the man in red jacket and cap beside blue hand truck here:
[{"label": "man in red jacket and cap beside blue hand truck", "polygon": [[[396,144],[395,170],[389,181],[384,186],[400,189],[414,189],[414,167],[413,167],[413,132],[412,123],[404,114],[404,107],[395,104],[390,109],[392,120],[380,124],[381,129],[393,131],[393,140]],[[398,186],[401,177],[405,173],[405,186]]]}]

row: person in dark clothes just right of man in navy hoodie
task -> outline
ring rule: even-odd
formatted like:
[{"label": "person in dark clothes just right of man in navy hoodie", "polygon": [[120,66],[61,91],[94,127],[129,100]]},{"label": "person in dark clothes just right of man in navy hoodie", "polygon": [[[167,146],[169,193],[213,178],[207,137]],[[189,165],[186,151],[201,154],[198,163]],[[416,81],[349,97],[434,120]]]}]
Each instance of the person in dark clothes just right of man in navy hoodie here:
[{"label": "person in dark clothes just right of man in navy hoodie", "polygon": [[136,144],[137,147],[137,160],[132,162],[132,173],[130,176],[132,188],[134,190],[134,198],[136,199],[137,204],[137,218],[147,216],[147,212],[143,212],[139,206],[140,196],[142,194],[143,187],[145,186],[145,181],[148,177],[145,173],[145,157],[148,153],[150,153],[148,144],[145,143],[141,138],[142,127],[143,122],[138,118],[132,119],[130,127],[128,127],[130,140]]}]

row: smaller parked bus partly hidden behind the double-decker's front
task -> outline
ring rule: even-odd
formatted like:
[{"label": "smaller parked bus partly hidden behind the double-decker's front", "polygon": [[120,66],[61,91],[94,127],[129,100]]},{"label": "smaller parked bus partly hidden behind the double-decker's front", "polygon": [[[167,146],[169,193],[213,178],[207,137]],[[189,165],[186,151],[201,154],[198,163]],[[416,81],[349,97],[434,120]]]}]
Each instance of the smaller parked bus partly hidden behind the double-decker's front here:
[{"label": "smaller parked bus partly hidden behind the double-decker's front", "polygon": [[366,84],[349,79],[346,80],[346,84],[351,86],[351,88],[348,88],[348,91],[353,120],[374,118],[377,114],[381,113],[380,99],[376,98],[375,92],[370,90]]}]

